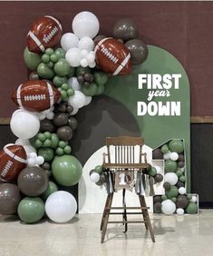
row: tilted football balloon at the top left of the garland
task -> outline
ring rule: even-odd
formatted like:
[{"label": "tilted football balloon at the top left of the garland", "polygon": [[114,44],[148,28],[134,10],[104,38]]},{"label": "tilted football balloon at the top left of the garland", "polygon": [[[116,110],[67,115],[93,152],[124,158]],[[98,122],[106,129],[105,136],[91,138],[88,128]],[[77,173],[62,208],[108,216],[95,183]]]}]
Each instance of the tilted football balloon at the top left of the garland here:
[{"label": "tilted football balloon at the top left of the garland", "polygon": [[48,47],[59,43],[62,36],[62,25],[60,21],[50,15],[45,15],[34,21],[26,41],[29,51],[42,53]]}]

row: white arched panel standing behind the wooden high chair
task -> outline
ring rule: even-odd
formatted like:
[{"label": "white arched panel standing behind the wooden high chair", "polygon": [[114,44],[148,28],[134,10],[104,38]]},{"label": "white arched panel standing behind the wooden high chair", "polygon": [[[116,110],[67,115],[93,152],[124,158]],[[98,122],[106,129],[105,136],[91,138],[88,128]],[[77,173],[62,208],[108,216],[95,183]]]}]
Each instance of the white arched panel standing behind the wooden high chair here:
[{"label": "white arched panel standing behind the wooden high chair", "polygon": [[[138,149],[139,151],[139,149]],[[159,173],[164,176],[164,161],[152,160],[152,149],[144,145],[143,152],[147,153],[148,162],[154,167],[158,166]],[[94,169],[96,165],[102,165],[102,153],[107,153],[106,146],[103,146],[88,159],[82,169],[82,178],[79,182],[79,213],[102,213],[106,202],[107,192],[104,186],[97,186],[91,182],[89,172]],[[113,155],[111,149],[111,155]],[[137,155],[137,152],[136,154]],[[139,152],[138,152],[139,155]],[[111,162],[113,159],[111,159]],[[163,188],[163,182],[154,185],[154,191],[156,195],[165,194]],[[121,206],[122,191],[114,193],[112,206]],[[153,212],[153,197],[146,196],[147,205],[150,207],[150,212]],[[140,206],[139,198],[134,192],[126,192],[126,204],[127,206]]]}]

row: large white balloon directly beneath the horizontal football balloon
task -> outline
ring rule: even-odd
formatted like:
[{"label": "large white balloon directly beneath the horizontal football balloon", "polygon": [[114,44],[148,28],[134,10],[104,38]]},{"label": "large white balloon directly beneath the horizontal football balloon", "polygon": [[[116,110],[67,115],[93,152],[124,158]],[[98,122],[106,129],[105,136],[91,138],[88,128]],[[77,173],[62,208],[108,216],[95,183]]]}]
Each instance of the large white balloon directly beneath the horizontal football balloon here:
[{"label": "large white balloon directly beneath the horizontal football balloon", "polygon": [[38,133],[40,122],[36,114],[21,110],[12,115],[10,128],[16,137],[30,139]]}]

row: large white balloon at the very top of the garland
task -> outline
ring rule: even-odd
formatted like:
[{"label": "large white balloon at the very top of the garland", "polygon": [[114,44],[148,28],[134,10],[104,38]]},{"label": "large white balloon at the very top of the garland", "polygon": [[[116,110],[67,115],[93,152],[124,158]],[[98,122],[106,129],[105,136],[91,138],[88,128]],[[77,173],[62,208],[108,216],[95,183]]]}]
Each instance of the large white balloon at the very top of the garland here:
[{"label": "large white balloon at the very top of the garland", "polygon": [[94,38],[99,33],[99,20],[91,12],[82,12],[73,18],[73,33],[82,38],[88,36]]}]

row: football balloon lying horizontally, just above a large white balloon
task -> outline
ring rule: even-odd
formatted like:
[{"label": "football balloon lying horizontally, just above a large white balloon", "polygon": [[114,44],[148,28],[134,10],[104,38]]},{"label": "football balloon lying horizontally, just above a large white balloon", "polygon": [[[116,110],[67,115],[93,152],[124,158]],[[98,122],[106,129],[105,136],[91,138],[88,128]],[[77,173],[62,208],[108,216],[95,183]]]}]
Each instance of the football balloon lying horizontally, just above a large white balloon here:
[{"label": "football balloon lying horizontally, just above a large white balloon", "polygon": [[50,82],[30,80],[20,84],[11,98],[25,110],[42,112],[50,109],[60,96],[60,92]]}]

